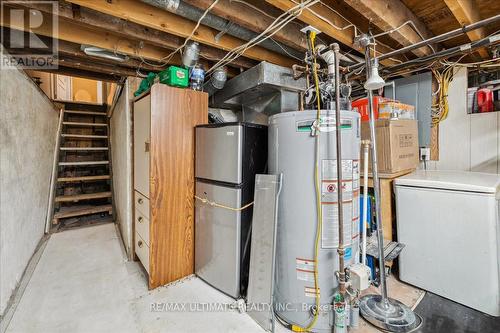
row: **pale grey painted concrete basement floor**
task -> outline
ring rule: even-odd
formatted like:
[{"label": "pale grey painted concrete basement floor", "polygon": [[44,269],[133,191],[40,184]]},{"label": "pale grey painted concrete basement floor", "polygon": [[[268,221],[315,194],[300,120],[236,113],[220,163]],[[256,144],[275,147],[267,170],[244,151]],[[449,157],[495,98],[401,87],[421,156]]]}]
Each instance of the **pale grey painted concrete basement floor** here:
[{"label": "pale grey painted concrete basement floor", "polygon": [[[389,288],[410,306],[422,295],[395,280]],[[177,302],[234,300],[195,277],[148,291],[142,268],[127,262],[114,224],[69,230],[49,239],[7,332],[264,332],[237,310],[163,311],[160,305],[152,311],[154,304]],[[356,332],[378,331],[361,323]]]}]

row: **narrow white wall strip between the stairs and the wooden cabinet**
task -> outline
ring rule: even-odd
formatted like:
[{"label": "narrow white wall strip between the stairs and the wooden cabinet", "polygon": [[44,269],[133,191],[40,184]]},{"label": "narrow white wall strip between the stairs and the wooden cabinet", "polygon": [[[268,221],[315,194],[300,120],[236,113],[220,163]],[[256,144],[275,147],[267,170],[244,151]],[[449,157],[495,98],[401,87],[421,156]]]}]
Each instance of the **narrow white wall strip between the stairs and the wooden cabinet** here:
[{"label": "narrow white wall strip between the stairs and the wooden cabinet", "polygon": [[129,82],[125,83],[110,119],[113,198],[118,223],[129,258],[132,238],[132,111]]}]

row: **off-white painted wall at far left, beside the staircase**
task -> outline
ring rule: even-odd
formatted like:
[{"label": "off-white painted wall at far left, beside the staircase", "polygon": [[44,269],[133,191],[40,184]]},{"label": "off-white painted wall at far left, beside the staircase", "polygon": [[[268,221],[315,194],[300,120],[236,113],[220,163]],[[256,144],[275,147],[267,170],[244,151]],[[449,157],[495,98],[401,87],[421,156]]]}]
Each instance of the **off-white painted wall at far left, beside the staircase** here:
[{"label": "off-white painted wall at far left, beside the staircase", "polygon": [[1,315],[44,233],[59,113],[24,72],[0,72]]}]

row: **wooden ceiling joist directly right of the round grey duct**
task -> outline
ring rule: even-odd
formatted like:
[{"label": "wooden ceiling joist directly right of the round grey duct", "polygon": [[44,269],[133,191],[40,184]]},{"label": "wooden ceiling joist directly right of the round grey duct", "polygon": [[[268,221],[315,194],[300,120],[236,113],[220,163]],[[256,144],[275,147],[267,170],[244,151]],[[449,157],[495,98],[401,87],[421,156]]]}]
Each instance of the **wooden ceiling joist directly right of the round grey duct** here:
[{"label": "wooden ceiling joist directly right of the round grey duct", "polygon": [[[203,10],[207,9],[213,3],[213,0],[183,1]],[[271,25],[274,18],[270,14],[260,12],[258,7],[255,9],[250,6],[232,0],[220,0],[210,12],[249,30],[260,33]],[[287,24],[272,38],[300,51],[307,50],[305,34],[300,32],[300,25],[298,24],[292,22]]]}]

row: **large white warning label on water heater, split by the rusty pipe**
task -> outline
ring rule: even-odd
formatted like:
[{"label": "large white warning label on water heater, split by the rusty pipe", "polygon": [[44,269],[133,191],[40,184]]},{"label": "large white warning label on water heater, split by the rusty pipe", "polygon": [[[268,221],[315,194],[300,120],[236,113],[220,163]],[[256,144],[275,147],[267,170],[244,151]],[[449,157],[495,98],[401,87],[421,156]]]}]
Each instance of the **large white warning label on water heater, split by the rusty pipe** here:
[{"label": "large white warning label on water heater, split by the rusty pipe", "polygon": [[[354,179],[359,179],[358,161],[342,160],[342,211],[344,226],[344,245],[350,245],[353,236],[353,185]],[[321,247],[323,249],[339,246],[339,216],[338,216],[338,183],[337,161],[323,160],[321,165],[321,210],[323,228],[321,232]],[[357,199],[357,198],[356,198]]]}]

